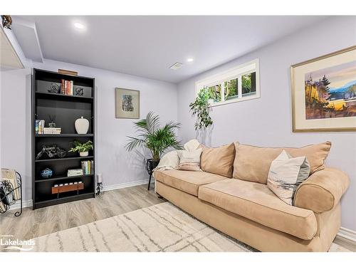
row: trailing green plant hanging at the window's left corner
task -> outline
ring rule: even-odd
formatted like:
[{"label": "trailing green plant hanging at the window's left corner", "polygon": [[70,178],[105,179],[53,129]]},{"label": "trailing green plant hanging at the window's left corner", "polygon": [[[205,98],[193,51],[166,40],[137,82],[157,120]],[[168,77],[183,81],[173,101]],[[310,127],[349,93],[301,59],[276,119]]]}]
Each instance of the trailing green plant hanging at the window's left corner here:
[{"label": "trailing green plant hanging at the window's left corner", "polygon": [[207,128],[213,124],[213,120],[209,115],[211,110],[209,105],[210,92],[208,88],[203,88],[199,91],[195,101],[189,104],[190,111],[193,116],[197,115],[197,122],[195,122],[195,130],[201,130],[203,127]]}]

